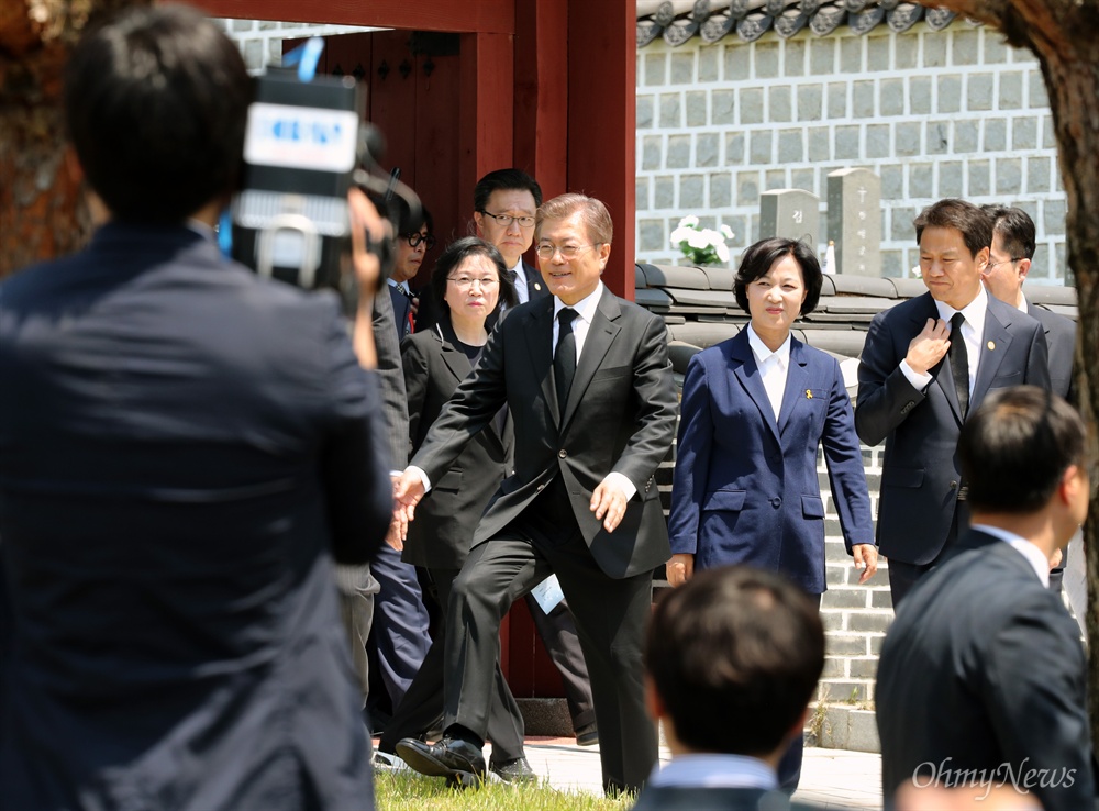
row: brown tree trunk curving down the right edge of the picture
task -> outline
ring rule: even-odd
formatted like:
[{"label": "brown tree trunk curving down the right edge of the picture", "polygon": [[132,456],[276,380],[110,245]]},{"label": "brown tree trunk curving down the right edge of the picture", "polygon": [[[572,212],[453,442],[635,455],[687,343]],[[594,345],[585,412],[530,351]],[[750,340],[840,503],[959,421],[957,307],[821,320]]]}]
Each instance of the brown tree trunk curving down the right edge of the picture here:
[{"label": "brown tree trunk curving down the right edge of the picture", "polygon": [[[929,3],[930,4],[930,3]],[[1099,742],[1099,2],[1096,0],[970,0],[937,3],[1002,31],[1008,42],[1034,52],[1053,110],[1062,182],[1068,197],[1065,234],[1068,268],[1076,279],[1076,388],[1088,426],[1091,509],[1084,526],[1087,552],[1088,702],[1091,740]]]}]

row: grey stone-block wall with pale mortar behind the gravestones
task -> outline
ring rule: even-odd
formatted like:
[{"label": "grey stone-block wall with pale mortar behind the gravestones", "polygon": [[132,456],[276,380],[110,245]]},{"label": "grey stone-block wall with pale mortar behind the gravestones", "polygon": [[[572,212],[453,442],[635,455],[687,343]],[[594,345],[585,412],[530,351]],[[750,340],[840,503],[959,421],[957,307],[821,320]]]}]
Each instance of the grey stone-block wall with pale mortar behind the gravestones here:
[{"label": "grey stone-block wall with pale mortar behind the gravestones", "polygon": [[881,177],[882,275],[917,264],[924,205],[964,197],[1025,209],[1031,278],[1063,284],[1065,195],[1041,71],[995,31],[958,21],[639,52],[639,260],[674,263],[668,234],[688,213],[729,224],[743,248],[758,237],[759,192],[779,188],[821,198],[823,248],[826,177],[851,166]]}]

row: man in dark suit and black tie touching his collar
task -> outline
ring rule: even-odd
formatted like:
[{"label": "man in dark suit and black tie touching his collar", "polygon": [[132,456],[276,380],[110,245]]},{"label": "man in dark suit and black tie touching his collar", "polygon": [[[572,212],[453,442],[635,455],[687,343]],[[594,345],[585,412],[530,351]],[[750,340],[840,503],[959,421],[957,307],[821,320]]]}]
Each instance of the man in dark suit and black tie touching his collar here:
[{"label": "man in dark suit and black tie touching his collar", "polygon": [[992,389],[1050,386],[1041,324],[980,284],[990,218],[946,199],[914,224],[928,292],[874,316],[855,403],[859,438],[886,443],[877,538],[895,608],[968,523],[956,455],[967,413]]}]

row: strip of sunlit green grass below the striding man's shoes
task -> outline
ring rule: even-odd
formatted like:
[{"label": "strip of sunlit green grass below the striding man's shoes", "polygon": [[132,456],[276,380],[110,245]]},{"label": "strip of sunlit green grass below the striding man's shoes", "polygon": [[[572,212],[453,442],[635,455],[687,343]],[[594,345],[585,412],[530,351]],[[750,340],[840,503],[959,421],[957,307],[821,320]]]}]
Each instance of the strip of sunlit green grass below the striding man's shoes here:
[{"label": "strip of sunlit green grass below the striding man's shoes", "polygon": [[479,789],[449,789],[441,777],[409,771],[376,771],[379,811],[629,811],[633,798],[611,800],[585,791],[563,791],[546,782],[508,786],[490,782]]}]

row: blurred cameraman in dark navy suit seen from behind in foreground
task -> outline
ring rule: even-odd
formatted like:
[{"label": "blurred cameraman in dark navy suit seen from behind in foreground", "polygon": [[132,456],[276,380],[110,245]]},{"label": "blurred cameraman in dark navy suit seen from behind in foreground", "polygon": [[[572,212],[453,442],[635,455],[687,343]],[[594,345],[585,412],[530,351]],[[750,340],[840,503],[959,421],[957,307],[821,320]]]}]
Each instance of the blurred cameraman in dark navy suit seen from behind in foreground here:
[{"label": "blurred cameraman in dark navy suit seen from behind in foreground", "polygon": [[5,808],[373,806],[332,560],[385,535],[385,429],[336,299],[214,245],[249,100],[181,7],[123,12],[69,64],[108,222],[0,286]]}]

